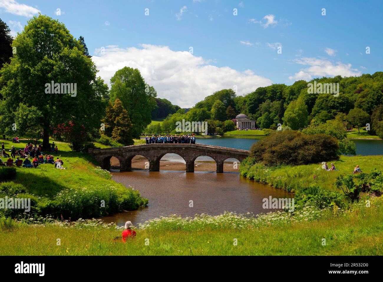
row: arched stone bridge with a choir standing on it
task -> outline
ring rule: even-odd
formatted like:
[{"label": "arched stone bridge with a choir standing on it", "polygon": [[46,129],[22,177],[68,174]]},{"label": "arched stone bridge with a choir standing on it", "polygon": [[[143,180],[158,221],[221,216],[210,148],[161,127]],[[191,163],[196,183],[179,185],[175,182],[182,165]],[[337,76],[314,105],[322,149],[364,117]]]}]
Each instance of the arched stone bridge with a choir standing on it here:
[{"label": "arched stone bridge with a choir standing on it", "polygon": [[116,157],[120,162],[120,170],[131,170],[132,158],[136,155],[146,157],[149,170],[158,172],[160,160],[167,153],[180,155],[186,162],[186,172],[194,172],[194,161],[200,156],[213,158],[217,163],[217,172],[223,172],[223,162],[228,158],[236,158],[242,162],[250,151],[226,147],[200,144],[143,144],[116,148],[89,149],[89,153],[101,163],[103,169],[110,169],[110,158]]}]

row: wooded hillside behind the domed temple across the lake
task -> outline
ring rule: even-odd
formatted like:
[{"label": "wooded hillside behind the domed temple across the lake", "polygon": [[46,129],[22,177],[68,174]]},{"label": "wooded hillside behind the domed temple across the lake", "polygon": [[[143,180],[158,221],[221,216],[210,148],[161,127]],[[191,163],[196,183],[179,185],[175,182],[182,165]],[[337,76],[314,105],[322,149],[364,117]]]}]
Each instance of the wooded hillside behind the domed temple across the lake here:
[{"label": "wooded hillside behind the domed temple across the lake", "polygon": [[[314,81],[339,83],[339,95],[311,93],[308,83]],[[161,127],[157,125],[148,130],[174,133],[175,122],[185,119],[208,120],[209,133],[222,133],[234,128],[231,121],[237,114],[246,114],[261,129],[275,130],[280,123],[301,130],[308,125],[337,120],[345,129],[358,127],[360,130],[370,124],[370,133],[383,137],[383,72],[359,77],[323,77],[309,82],[300,80],[290,86],[272,84],[244,96],[237,96],[232,89],[223,89],[197,102],[186,114],[182,111],[169,114]]]}]

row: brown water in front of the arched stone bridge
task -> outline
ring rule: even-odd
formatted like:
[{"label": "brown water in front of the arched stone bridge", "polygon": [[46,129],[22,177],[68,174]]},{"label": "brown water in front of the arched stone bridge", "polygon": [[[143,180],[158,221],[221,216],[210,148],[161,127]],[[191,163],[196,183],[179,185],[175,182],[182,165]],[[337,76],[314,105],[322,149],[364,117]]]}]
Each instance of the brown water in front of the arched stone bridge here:
[{"label": "brown water in front of the arched stone bridge", "polygon": [[[267,213],[262,199],[290,198],[292,194],[254,182],[239,173],[215,172],[149,172],[133,170],[113,173],[112,179],[124,186],[131,185],[149,199],[149,206],[137,211],[104,217],[107,223],[119,226],[130,220],[134,225],[159,216],[171,214],[194,216],[208,213],[217,215],[224,211],[237,213]],[[189,207],[189,201],[193,207]]]}]

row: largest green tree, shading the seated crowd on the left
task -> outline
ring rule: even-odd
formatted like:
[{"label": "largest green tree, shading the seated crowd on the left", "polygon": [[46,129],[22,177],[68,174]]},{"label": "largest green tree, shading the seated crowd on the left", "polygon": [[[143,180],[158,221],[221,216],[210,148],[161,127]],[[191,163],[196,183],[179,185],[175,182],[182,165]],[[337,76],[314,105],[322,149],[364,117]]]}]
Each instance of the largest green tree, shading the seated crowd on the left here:
[{"label": "largest green tree, shading the seated crowd on the left", "polygon": [[[48,148],[49,135],[59,124],[75,124],[84,134],[100,128],[105,110],[101,101],[105,93],[100,92],[105,89],[103,81],[97,79],[95,64],[84,56],[83,46],[63,23],[35,16],[12,46],[17,52],[0,71],[0,124],[7,135],[43,130],[43,147]],[[54,89],[50,89],[52,81]],[[62,84],[70,84],[73,93]]]}]

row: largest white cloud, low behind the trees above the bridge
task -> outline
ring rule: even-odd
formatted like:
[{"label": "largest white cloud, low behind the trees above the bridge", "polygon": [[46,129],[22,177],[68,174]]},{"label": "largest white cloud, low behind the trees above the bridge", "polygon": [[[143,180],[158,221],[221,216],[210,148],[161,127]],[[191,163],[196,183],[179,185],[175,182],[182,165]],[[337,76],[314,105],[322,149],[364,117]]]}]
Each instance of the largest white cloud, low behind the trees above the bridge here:
[{"label": "largest white cloud, low behind the trees above the bridge", "polygon": [[143,44],[141,48],[106,46],[92,56],[101,78],[109,84],[118,69],[137,68],[145,81],[166,98],[180,107],[191,107],[196,102],[220,89],[238,87],[237,94],[246,94],[257,87],[271,85],[270,79],[253,71],[237,71],[228,66],[216,67],[202,57],[188,51],[173,51],[168,46]]}]

